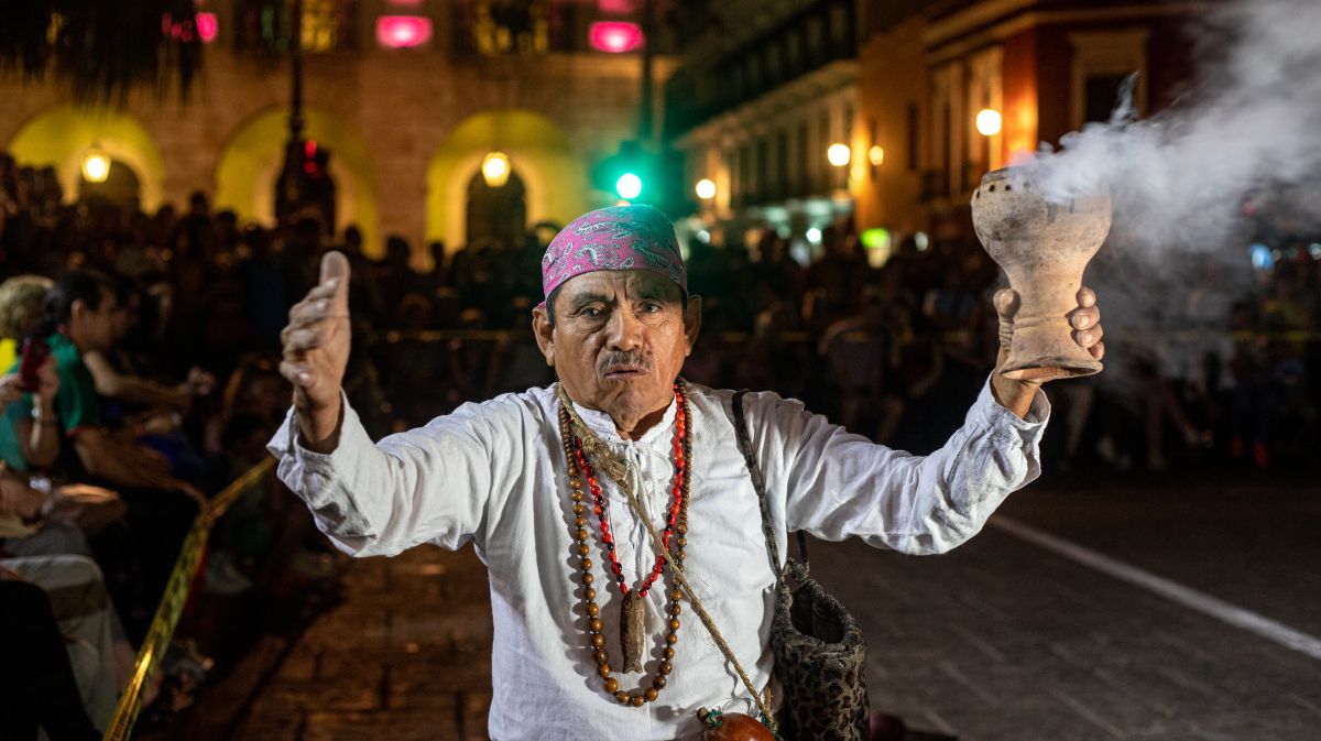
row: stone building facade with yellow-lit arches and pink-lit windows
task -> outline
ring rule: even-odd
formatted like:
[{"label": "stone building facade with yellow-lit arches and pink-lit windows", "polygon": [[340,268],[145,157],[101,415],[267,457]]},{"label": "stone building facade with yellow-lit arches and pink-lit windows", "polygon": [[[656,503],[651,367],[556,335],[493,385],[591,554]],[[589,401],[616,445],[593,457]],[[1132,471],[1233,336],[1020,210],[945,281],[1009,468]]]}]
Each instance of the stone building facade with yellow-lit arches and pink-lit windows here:
[{"label": "stone building facade with yellow-lit arches and pink-lit windows", "polygon": [[[273,188],[288,125],[291,4],[203,0],[196,24],[203,71],[178,104],[153,92],[127,106],[74,106],[66,83],[0,78],[0,149],[52,165],[69,199],[89,184],[89,152],[110,164],[108,186],[151,211],[189,193],[244,221],[273,221]],[[482,165],[505,156],[526,221],[567,222],[613,202],[589,173],[638,128],[642,95],[638,4],[567,0],[304,0],[305,135],[329,153],[336,226],[358,225],[367,248],[387,232],[450,250],[502,223],[483,213]],[[606,48],[593,48],[593,25]],[[597,32],[600,34],[600,32]],[[653,40],[653,75],[672,70]],[[622,46],[613,46],[622,45]],[[653,110],[659,110],[654,106]],[[118,184],[118,185],[116,185]],[[127,184],[127,185],[125,185]],[[123,188],[119,188],[123,186]],[[476,202],[476,205],[474,205]],[[506,203],[507,205],[507,203]]]}]

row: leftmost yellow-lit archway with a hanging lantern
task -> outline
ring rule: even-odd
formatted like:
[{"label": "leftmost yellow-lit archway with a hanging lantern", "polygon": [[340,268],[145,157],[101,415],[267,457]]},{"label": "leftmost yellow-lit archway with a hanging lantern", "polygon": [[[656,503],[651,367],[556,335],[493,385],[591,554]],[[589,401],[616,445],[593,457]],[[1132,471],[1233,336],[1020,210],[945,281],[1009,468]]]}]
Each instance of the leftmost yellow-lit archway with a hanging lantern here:
[{"label": "leftmost yellow-lit archway with a hanging lantern", "polygon": [[86,110],[58,106],[29,120],[7,145],[24,165],[52,165],[66,201],[77,201],[83,190],[82,162],[91,149],[111,161],[111,174],[137,182],[137,201],[144,211],[161,206],[165,194],[165,165],[147,128],[132,116],[106,108]]}]

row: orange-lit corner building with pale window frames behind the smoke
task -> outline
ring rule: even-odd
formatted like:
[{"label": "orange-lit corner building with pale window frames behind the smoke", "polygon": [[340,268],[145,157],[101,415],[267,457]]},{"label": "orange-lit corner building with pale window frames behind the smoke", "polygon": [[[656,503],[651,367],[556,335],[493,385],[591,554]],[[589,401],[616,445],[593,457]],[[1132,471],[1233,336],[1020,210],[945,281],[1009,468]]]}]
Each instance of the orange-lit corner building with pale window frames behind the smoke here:
[{"label": "orange-lit corner building with pale window frames behind the smoke", "polygon": [[[1137,73],[1139,116],[1192,77],[1185,1],[881,1],[864,13],[859,122],[880,165],[853,188],[860,227],[967,236],[982,174],[1087,122],[1108,120]],[[1000,125],[979,129],[979,114]],[[982,118],[987,120],[985,116]]]}]

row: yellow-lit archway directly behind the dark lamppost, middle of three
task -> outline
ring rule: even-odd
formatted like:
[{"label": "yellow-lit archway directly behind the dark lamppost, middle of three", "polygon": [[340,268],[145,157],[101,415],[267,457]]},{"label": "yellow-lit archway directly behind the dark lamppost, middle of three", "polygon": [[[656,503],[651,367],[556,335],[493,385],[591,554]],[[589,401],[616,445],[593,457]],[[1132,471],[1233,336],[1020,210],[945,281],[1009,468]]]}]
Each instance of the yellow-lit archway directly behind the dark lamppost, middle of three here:
[{"label": "yellow-lit archway directly behind the dark lamppost, middle of three", "polygon": [[[275,186],[284,164],[288,108],[267,108],[238,127],[215,165],[215,209],[231,209],[239,218],[275,223]],[[336,188],[336,234],[350,225],[362,230],[369,254],[383,254],[376,178],[366,139],[337,115],[306,108],[304,137],[330,152],[330,180]]]}]

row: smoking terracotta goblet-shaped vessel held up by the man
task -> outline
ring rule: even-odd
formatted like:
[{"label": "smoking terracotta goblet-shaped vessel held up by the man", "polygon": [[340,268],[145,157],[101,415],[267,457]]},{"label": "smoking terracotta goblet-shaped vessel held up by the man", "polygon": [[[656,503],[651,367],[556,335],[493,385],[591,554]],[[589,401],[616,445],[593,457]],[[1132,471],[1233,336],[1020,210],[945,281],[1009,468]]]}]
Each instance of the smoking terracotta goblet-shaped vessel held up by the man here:
[{"label": "smoking terracotta goblet-shaped vessel held up by the man", "polygon": [[1066,314],[1078,308],[1087,262],[1110,232],[1110,193],[1046,201],[1026,168],[988,172],[972,193],[972,226],[1021,301],[1009,358],[1016,380],[1052,380],[1100,370],[1073,339]]}]

